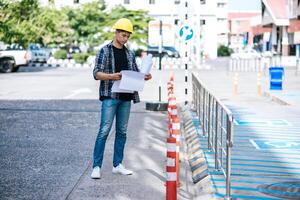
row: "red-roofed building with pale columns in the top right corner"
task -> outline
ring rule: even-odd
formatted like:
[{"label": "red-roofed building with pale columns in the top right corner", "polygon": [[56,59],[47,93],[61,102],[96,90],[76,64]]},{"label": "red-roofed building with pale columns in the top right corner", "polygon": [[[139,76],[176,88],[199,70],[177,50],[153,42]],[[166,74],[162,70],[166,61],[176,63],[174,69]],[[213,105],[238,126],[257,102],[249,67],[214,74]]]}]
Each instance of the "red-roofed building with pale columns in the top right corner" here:
[{"label": "red-roofed building with pale columns in the top right corner", "polygon": [[271,28],[265,50],[300,56],[300,0],[262,0],[262,25]]}]

